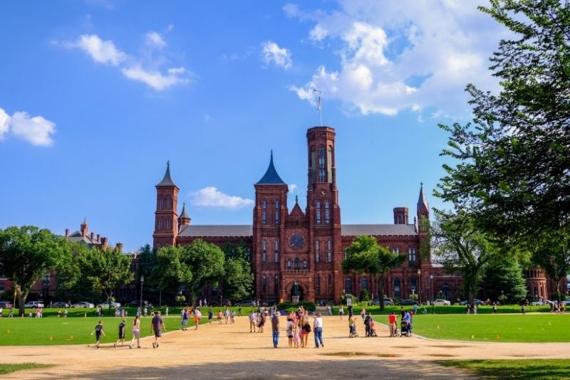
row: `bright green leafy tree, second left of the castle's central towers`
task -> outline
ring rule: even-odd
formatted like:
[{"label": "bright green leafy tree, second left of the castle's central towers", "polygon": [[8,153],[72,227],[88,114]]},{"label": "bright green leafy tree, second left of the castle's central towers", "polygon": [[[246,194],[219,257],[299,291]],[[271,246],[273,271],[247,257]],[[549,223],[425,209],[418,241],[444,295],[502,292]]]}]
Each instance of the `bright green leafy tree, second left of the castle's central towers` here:
[{"label": "bright green leafy tree, second left of the castle's central towers", "polygon": [[195,295],[204,285],[217,285],[219,278],[224,275],[224,252],[218,246],[202,239],[182,247],[182,261],[192,273],[192,279],[187,283],[192,300],[195,300]]}]

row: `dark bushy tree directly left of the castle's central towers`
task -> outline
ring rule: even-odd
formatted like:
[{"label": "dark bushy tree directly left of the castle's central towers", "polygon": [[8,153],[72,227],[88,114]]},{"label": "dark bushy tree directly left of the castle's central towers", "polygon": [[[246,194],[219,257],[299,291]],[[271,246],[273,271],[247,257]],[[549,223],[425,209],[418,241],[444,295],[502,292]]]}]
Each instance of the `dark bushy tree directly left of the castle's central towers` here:
[{"label": "dark bushy tree directly left of the castle's central towers", "polygon": [[244,300],[252,292],[254,275],[252,265],[247,261],[248,248],[244,243],[224,246],[224,275],[221,278],[224,284],[224,294],[230,300]]}]

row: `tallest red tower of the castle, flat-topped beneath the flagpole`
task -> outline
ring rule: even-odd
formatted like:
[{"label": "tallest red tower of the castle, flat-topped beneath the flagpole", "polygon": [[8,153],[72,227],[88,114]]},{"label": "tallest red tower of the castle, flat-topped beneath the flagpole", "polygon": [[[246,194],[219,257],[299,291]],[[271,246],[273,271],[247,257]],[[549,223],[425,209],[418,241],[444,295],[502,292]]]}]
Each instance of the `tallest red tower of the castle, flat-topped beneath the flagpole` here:
[{"label": "tallest red tower of the castle, flat-topped beneath the flagpole", "polygon": [[307,131],[309,253],[314,297],[337,299],[343,290],[341,209],[336,186],[335,136],[331,127]]}]

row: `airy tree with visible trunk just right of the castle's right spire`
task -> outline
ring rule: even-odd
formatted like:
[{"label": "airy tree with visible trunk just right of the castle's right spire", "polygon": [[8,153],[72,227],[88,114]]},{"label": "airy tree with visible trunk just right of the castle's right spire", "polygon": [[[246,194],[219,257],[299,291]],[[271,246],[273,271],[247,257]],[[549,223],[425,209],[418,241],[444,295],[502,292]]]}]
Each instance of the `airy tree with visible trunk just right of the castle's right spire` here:
[{"label": "airy tree with visible trunk just right of the castle's right spire", "polygon": [[447,272],[460,272],[470,305],[478,290],[482,271],[495,250],[483,233],[475,228],[467,213],[435,210],[432,226],[432,254],[439,257]]}]

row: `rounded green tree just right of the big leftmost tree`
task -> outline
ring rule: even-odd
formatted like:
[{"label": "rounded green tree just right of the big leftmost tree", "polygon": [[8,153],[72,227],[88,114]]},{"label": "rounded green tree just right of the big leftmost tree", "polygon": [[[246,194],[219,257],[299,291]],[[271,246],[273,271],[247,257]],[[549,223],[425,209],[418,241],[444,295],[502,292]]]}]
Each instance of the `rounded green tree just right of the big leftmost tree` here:
[{"label": "rounded green tree just right of the big leftmost tree", "polygon": [[105,250],[93,248],[83,255],[81,273],[87,278],[96,292],[105,293],[105,299],[111,300],[115,287],[133,281],[130,270],[131,258],[123,254],[120,248]]}]

